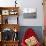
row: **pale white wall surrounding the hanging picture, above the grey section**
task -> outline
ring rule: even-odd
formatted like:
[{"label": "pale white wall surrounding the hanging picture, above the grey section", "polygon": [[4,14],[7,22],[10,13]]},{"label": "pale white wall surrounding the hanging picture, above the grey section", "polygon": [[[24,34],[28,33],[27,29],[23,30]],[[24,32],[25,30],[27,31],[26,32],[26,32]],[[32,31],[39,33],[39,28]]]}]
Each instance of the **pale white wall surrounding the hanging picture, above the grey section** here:
[{"label": "pale white wall surrounding the hanging picture, above the grey section", "polygon": [[24,0],[21,1],[21,6],[24,8],[37,8],[36,19],[24,19],[23,15],[20,15],[20,25],[24,26],[43,26],[43,9],[42,0]]}]

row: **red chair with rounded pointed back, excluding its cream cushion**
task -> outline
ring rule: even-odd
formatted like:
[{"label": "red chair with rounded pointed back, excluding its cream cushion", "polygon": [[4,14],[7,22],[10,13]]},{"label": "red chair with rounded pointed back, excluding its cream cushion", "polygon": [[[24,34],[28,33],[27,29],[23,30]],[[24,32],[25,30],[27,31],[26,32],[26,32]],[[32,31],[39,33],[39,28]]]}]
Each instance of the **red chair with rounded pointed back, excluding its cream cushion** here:
[{"label": "red chair with rounded pointed back, excluding its cream cushion", "polygon": [[[27,29],[25,32],[24,37],[22,38],[21,46],[26,46],[25,39],[28,39],[29,37],[37,37],[36,33],[32,28]],[[36,38],[37,39],[37,38]],[[40,43],[38,42],[35,46],[41,46]]]}]

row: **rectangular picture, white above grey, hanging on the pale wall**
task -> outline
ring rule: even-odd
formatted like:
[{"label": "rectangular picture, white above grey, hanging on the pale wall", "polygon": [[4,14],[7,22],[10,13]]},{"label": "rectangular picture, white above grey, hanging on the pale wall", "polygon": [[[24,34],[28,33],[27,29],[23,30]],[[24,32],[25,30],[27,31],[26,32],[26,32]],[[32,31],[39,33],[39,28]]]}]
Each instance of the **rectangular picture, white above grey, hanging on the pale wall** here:
[{"label": "rectangular picture, white above grey, hanging on the pale wall", "polygon": [[33,8],[25,8],[23,10],[24,19],[37,18],[37,10]]}]

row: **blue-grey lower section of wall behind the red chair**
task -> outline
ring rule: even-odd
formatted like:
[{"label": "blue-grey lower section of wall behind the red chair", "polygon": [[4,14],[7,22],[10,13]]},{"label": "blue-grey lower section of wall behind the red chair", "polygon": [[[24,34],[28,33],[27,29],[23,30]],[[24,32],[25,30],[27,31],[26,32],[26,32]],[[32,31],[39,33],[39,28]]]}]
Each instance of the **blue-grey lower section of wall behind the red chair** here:
[{"label": "blue-grey lower section of wall behind the red chair", "polygon": [[34,32],[36,32],[37,34],[37,37],[39,39],[39,41],[42,43],[43,42],[43,30],[42,30],[42,26],[21,26],[20,27],[20,32],[19,32],[19,39],[20,39],[20,42],[24,36],[24,33],[25,31],[28,29],[28,28],[32,28],[34,30]]}]

